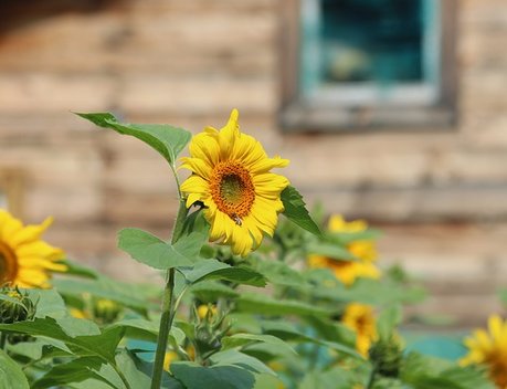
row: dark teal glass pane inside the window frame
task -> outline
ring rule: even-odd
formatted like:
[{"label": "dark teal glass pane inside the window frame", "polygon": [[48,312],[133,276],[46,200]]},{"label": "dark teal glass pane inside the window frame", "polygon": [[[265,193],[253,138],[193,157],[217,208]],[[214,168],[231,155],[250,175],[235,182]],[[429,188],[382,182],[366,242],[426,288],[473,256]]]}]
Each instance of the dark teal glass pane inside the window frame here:
[{"label": "dark teal glass pane inside the window frame", "polygon": [[422,0],[321,0],[320,81],[423,78]]}]

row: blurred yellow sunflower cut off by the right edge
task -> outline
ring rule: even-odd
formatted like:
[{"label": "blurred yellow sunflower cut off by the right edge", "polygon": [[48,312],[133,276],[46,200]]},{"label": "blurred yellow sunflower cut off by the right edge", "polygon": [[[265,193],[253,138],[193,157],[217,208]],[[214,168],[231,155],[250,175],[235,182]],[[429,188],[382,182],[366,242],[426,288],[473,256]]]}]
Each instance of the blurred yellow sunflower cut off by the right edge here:
[{"label": "blurred yellow sunflower cut off by the right edge", "polygon": [[485,365],[489,376],[498,388],[507,389],[507,320],[498,315],[488,319],[489,333],[476,329],[473,336],[465,338],[468,355],[460,362],[467,365]]}]

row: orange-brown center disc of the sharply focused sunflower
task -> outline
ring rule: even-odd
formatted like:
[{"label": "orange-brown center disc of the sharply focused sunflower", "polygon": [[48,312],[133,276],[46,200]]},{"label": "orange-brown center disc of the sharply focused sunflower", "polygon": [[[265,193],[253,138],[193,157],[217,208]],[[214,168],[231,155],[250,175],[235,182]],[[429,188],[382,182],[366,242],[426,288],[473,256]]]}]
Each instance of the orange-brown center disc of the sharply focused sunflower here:
[{"label": "orange-brown center disc of the sharply focused sunflower", "polygon": [[237,162],[220,162],[213,169],[210,189],[216,208],[241,225],[255,200],[250,172]]}]

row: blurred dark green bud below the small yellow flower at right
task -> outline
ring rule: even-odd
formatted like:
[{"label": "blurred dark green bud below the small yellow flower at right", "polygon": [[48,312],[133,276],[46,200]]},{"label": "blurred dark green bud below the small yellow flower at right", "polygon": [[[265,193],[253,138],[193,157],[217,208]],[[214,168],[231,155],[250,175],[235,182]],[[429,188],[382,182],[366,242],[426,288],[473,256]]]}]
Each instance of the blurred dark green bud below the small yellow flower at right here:
[{"label": "blurred dark green bud below the small yellow flower at right", "polygon": [[401,365],[402,350],[400,343],[390,337],[388,340],[380,339],[370,348],[370,360],[377,367],[377,371],[384,377],[398,377]]}]

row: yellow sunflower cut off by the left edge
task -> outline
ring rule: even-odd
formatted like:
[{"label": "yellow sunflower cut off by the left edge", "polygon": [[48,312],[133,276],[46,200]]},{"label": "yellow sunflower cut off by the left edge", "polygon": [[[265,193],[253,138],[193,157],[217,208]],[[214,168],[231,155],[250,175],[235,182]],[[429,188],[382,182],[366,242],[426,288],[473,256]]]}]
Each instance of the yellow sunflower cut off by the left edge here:
[{"label": "yellow sunflower cut off by the left edge", "polygon": [[0,284],[19,287],[49,287],[50,271],[64,272],[57,263],[64,253],[41,240],[50,227],[47,218],[41,225],[23,227],[9,212],[0,210]]}]

